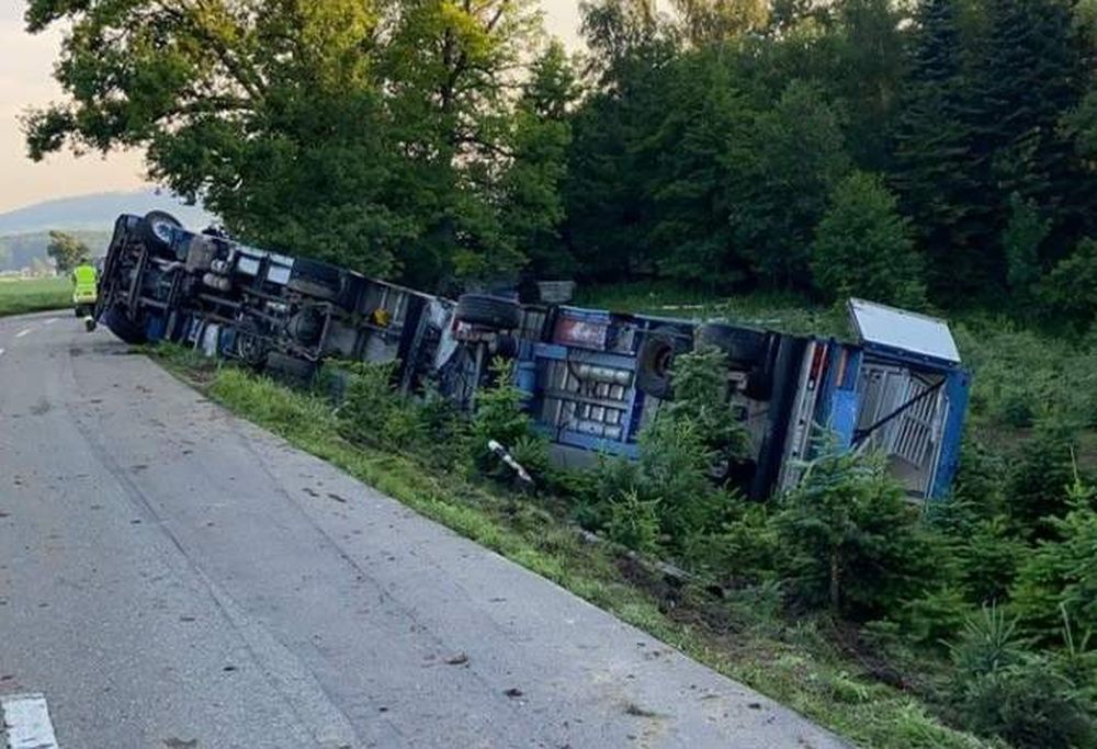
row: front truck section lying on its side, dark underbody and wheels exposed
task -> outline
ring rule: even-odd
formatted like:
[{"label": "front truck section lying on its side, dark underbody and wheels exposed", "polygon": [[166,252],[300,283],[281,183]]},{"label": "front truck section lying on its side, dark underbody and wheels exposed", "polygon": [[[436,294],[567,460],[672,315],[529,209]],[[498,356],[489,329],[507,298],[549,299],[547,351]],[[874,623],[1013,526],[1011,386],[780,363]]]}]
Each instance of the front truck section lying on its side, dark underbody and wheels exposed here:
[{"label": "front truck section lying on its side, dark underbody and wheels exposed", "polygon": [[129,343],[168,340],[295,378],[326,359],[398,361],[414,386],[453,303],[326,263],[186,231],[166,214],[117,219],[97,317]]}]

